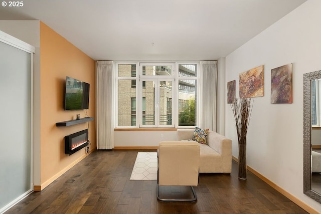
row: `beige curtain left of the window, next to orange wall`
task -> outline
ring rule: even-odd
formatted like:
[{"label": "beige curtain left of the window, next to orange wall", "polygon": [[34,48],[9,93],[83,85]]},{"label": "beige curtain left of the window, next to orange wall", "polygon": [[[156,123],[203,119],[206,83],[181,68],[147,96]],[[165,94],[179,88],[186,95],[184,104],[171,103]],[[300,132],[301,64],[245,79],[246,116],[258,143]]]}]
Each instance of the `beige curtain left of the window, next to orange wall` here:
[{"label": "beige curtain left of the window, next to orange wall", "polygon": [[112,61],[96,61],[96,147],[114,146],[114,72]]}]

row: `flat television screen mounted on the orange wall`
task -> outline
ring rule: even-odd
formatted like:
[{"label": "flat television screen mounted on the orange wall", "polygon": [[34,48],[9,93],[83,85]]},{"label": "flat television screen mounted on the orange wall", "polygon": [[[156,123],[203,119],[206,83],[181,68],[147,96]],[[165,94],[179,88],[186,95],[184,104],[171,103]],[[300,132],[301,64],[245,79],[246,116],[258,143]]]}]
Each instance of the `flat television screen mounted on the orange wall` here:
[{"label": "flat television screen mounted on the orange wall", "polygon": [[89,108],[89,83],[66,77],[65,110]]}]

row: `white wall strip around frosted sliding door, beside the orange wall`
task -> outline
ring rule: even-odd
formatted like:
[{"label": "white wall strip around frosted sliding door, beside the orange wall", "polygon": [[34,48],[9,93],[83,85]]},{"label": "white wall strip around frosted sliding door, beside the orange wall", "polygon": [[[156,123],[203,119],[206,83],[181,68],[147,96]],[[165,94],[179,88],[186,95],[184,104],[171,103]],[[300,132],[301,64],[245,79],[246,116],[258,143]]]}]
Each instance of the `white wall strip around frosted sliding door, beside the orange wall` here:
[{"label": "white wall strip around frosted sliding door, beside the orange wall", "polygon": [[40,185],[40,21],[0,20],[0,30],[35,47],[34,54],[34,185]]}]

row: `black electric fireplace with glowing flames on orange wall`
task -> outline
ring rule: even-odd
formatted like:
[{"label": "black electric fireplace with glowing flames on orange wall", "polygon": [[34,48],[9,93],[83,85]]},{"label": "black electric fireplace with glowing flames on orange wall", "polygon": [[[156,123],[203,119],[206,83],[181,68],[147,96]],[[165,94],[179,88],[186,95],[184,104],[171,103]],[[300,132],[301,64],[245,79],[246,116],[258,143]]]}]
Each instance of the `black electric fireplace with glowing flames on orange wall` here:
[{"label": "black electric fireplace with glowing flames on orange wall", "polygon": [[72,155],[88,146],[88,129],[65,136],[65,154]]}]

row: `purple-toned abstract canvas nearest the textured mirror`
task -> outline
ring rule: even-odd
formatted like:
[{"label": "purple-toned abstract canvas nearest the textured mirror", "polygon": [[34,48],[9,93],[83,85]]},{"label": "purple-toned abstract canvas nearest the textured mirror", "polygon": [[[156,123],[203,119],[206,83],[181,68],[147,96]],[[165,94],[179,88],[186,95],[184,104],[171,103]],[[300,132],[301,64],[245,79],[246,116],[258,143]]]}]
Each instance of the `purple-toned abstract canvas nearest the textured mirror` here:
[{"label": "purple-toned abstract canvas nearest the textured mirror", "polygon": [[292,64],[271,70],[271,103],[292,103]]}]

